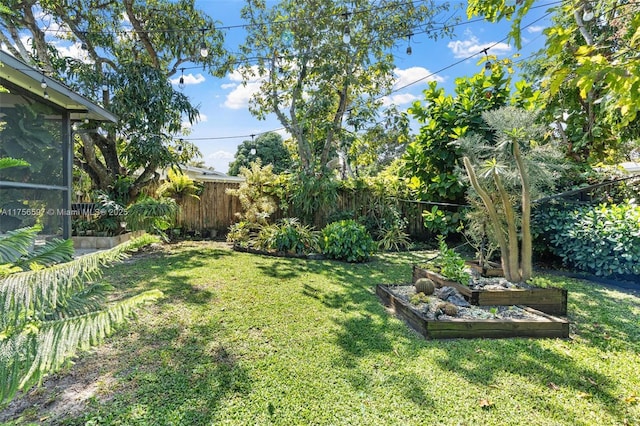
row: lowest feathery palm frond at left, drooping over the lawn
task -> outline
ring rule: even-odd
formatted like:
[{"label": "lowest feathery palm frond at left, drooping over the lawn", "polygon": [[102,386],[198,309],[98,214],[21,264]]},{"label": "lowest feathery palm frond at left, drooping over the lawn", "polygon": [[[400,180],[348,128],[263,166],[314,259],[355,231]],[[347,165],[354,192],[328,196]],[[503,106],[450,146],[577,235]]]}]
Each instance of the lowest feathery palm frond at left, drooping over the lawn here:
[{"label": "lowest feathery palm frond at left, drooping over the lawn", "polygon": [[78,349],[100,343],[136,306],[160,297],[159,290],[147,291],[97,312],[33,324],[0,341],[0,403],[41,382]]}]

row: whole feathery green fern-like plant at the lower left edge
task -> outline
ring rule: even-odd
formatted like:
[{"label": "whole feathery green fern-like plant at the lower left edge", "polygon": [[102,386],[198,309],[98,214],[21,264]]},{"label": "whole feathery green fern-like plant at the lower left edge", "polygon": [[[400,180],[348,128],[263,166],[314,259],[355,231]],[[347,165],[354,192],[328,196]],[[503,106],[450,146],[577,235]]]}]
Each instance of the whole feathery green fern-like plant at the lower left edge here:
[{"label": "whole feathery green fern-like plant at the lower left edge", "polygon": [[0,239],[0,404],[40,383],[76,350],[99,343],[135,306],[161,296],[149,291],[105,304],[108,288],[95,281],[103,266],[157,239],[143,236],[57,263],[69,257],[69,243],[34,250],[36,233],[26,228]]}]

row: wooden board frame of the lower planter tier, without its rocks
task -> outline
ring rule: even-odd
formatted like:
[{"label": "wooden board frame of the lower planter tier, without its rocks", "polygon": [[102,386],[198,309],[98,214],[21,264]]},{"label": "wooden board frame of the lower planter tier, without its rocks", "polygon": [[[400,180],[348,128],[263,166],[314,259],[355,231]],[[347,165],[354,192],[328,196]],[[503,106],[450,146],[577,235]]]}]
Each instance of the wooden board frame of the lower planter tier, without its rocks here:
[{"label": "wooden board frame of the lower planter tier, without its rocks", "polygon": [[427,339],[569,337],[569,322],[544,312],[524,307],[536,319],[464,319],[430,320],[404,300],[396,297],[392,287],[378,284],[376,294],[382,303],[411,328]]}]

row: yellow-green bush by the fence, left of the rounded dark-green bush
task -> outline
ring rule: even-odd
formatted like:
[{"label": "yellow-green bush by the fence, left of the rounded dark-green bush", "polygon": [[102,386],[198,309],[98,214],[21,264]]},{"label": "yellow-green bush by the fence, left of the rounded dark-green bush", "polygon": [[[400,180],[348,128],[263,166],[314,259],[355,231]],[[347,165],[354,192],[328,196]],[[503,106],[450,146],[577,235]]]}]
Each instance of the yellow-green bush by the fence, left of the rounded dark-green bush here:
[{"label": "yellow-green bush by the fence, left of the rounded dark-green bush", "polygon": [[318,251],[318,235],[297,218],[278,221],[262,227],[255,242],[256,248],[285,253],[306,254]]}]

